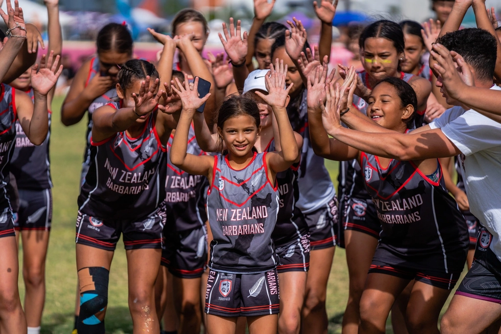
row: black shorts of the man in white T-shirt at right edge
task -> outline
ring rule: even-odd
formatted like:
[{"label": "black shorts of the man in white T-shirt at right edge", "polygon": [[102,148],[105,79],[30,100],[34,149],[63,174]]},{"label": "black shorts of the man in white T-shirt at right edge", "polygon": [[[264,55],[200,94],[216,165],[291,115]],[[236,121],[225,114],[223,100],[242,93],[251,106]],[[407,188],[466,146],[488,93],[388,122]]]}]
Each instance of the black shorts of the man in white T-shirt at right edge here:
[{"label": "black shorts of the man in white T-shirt at right edge", "polygon": [[484,250],[471,265],[455,294],[501,304],[501,262],[489,248],[492,236],[488,235],[484,235],[484,242],[480,244]]}]

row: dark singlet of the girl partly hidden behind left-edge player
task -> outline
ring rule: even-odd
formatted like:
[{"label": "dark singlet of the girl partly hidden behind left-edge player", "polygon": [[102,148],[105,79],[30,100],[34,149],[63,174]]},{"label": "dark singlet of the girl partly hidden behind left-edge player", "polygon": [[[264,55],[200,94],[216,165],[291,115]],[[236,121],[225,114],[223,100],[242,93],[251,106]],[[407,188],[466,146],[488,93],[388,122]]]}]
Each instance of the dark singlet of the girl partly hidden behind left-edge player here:
[{"label": "dark singlet of the girl partly hidden behind left-edge player", "polygon": [[[33,88],[26,93],[34,101]],[[23,131],[19,120],[16,121],[16,146],[11,160],[11,172],[16,177],[19,189],[44,190],[52,188],[49,160],[51,116],[52,112],[49,111],[49,132],[40,146],[32,144]]]}]

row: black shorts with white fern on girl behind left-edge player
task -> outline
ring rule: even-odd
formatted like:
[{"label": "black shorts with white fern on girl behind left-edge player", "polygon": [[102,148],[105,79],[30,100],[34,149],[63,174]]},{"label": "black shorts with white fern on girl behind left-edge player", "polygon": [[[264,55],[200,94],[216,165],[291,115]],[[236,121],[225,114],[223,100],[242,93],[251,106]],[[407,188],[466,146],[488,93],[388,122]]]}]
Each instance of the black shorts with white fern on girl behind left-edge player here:
[{"label": "black shorts with white fern on girl behind left-edge player", "polygon": [[19,189],[19,211],[14,214],[16,230],[49,231],[52,222],[52,190]]}]

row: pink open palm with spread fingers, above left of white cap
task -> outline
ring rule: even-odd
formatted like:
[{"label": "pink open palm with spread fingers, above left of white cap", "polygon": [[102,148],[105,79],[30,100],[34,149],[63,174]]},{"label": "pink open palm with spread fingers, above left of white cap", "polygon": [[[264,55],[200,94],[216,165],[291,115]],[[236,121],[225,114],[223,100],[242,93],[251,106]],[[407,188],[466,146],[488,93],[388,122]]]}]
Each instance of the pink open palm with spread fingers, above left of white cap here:
[{"label": "pink open palm with spread fingers, above left of white cap", "polygon": [[242,38],[240,20],[236,22],[235,29],[233,18],[229,18],[229,32],[225,22],[222,24],[222,30],[224,38],[221,33],[219,33],[219,39],[221,40],[224,51],[226,51],[231,63],[234,65],[243,64],[245,62],[245,57],[247,56],[247,32],[243,32]]}]

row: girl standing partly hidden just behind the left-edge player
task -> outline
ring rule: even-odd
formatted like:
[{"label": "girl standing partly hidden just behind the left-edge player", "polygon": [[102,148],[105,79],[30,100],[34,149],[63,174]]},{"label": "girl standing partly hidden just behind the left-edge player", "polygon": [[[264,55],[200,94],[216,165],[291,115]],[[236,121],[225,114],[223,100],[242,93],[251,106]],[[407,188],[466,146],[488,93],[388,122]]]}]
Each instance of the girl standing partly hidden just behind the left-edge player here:
[{"label": "girl standing partly hidden just behind the left-edge player", "polygon": [[[61,54],[63,45],[61,26],[59,24],[58,0],[46,0],[49,18],[49,50],[54,55]],[[30,67],[23,75],[14,80],[10,86],[27,92],[35,98],[31,85]],[[51,122],[51,104],[54,90],[47,96],[49,110],[49,129]],[[45,303],[45,260],[49,245],[49,231],[52,220],[52,181],[49,163],[50,130],[42,145],[34,146],[16,122],[16,145],[11,160],[19,189],[20,209],[15,211],[15,229],[18,239],[23,240],[23,278],[26,285],[25,313],[28,328],[32,333],[40,332],[42,311]]]}]

